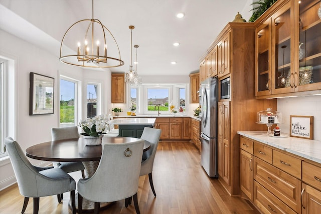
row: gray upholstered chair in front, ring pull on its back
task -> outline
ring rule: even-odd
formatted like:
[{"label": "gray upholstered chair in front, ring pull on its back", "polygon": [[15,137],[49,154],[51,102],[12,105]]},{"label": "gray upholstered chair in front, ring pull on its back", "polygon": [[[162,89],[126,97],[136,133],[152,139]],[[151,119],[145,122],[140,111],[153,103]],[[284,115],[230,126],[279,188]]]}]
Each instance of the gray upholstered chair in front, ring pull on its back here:
[{"label": "gray upholstered chair in front, ring pull on its back", "polygon": [[90,178],[79,179],[78,212],[82,213],[82,198],[95,201],[94,213],[99,213],[100,202],[111,202],[133,196],[139,212],[137,191],[144,141],[103,145],[96,172]]}]

